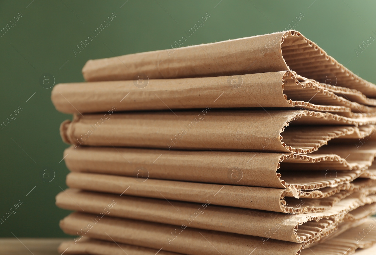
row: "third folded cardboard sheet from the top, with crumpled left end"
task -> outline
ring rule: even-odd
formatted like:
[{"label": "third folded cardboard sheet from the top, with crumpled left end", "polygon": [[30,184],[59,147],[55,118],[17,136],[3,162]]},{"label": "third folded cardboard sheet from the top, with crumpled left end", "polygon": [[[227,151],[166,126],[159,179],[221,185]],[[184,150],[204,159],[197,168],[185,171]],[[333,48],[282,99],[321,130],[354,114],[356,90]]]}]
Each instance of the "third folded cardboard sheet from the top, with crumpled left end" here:
[{"label": "third folded cardboard sheet from the top, with crumpled left end", "polygon": [[[350,126],[363,120],[306,110],[214,111],[206,108],[196,112],[74,115],[73,121],[61,124],[60,133],[63,141],[75,147],[311,153],[334,138],[369,136],[376,129],[374,125]],[[290,122],[293,126],[289,126]],[[312,126],[323,124],[335,126]]]}]

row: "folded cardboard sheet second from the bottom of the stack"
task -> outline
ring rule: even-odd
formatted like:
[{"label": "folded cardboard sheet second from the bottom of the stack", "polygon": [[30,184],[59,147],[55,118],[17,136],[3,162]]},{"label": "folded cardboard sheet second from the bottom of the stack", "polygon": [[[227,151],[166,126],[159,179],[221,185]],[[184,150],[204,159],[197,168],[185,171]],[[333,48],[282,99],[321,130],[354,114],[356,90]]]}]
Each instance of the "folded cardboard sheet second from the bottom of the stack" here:
[{"label": "folded cardboard sheet second from the bottom of the stack", "polygon": [[[264,255],[279,254],[278,252],[281,250],[286,255],[299,255],[300,251],[306,245],[305,243],[293,243],[240,234],[193,229],[186,227],[186,225],[179,227],[112,217],[103,217],[99,220],[94,220],[95,217],[96,214],[73,213],[61,220],[60,226],[65,233],[78,235],[79,237],[75,240],[77,243],[83,237],[89,237],[127,245],[144,246],[156,249],[156,251],[184,251],[185,254],[190,255],[216,255],[218,252],[228,255],[250,254],[251,252],[255,255]],[[370,221],[365,224],[367,225],[362,224],[358,228],[369,228],[369,225],[372,223]],[[337,244],[332,244],[331,251],[338,252],[338,250],[343,249],[346,245],[350,246],[349,250],[352,248],[354,251],[358,247],[369,247],[376,241],[376,231],[373,228],[370,229],[367,238],[357,242],[356,237],[358,233],[355,231],[358,231],[358,228],[350,229],[349,231],[351,232],[346,231],[340,236],[334,237],[333,240],[337,241]],[[353,240],[351,241],[348,238],[350,237],[350,235],[348,236],[349,233],[352,233]],[[309,249],[313,249],[314,247]],[[336,247],[338,249],[335,249]]]}]

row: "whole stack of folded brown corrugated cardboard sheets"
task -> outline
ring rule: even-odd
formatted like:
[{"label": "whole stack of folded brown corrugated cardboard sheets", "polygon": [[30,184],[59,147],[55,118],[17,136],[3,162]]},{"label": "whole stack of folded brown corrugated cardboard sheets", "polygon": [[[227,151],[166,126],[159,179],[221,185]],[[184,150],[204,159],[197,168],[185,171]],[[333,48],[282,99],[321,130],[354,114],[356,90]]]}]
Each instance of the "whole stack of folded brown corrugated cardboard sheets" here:
[{"label": "whole stack of folded brown corrugated cardboard sheets", "polygon": [[90,60],[59,84],[65,254],[376,242],[376,86],[297,31]]}]

